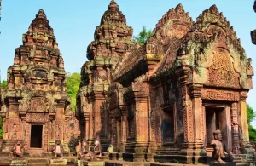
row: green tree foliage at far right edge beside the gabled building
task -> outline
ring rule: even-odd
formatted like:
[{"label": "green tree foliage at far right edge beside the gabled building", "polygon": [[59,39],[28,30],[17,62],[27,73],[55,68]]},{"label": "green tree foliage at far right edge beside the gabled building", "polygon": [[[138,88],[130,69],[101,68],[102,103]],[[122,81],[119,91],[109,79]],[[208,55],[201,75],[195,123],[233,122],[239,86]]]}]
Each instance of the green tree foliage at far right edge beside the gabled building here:
[{"label": "green tree foliage at far right edge beside the gabled building", "polygon": [[253,108],[249,105],[247,105],[247,123],[249,126],[249,137],[250,141],[254,142],[256,141],[256,129],[253,128],[252,122],[253,119],[256,117],[255,112],[253,111]]}]

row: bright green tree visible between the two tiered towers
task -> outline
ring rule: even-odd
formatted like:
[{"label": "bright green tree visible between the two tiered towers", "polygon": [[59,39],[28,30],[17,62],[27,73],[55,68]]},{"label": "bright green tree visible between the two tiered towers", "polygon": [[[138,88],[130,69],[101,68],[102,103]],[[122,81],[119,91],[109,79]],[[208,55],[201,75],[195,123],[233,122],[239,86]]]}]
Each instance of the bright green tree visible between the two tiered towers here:
[{"label": "bright green tree visible between the two tiered towers", "polygon": [[71,101],[72,111],[75,111],[76,96],[81,82],[81,75],[78,72],[67,73],[67,96]]}]

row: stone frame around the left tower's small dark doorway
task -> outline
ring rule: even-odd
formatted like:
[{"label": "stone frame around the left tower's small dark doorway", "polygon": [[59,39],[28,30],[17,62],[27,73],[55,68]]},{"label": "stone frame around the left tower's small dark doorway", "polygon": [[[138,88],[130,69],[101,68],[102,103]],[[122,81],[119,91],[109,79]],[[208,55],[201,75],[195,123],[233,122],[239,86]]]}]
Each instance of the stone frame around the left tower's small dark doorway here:
[{"label": "stone frame around the left tower's small dark doorway", "polygon": [[[42,125],[43,126],[43,129],[42,129],[42,148],[31,148],[31,128],[32,128],[32,125]],[[28,144],[27,144],[27,147],[25,149],[26,152],[44,152],[44,139],[45,139],[45,128],[47,126],[45,125],[45,123],[29,123],[28,124]]]}]

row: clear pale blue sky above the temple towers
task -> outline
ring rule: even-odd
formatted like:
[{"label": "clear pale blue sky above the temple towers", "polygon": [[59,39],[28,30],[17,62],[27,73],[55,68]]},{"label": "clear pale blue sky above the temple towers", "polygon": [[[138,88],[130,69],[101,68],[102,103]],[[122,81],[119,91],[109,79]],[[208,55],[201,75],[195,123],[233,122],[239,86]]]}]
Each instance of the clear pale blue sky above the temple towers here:
[{"label": "clear pale blue sky above the temple towers", "polygon": [[[3,0],[2,20],[0,22],[0,70],[6,79],[7,68],[13,64],[15,48],[22,44],[22,34],[35,18],[39,9],[44,9],[49,24],[54,28],[55,37],[65,61],[67,72],[80,72],[86,59],[86,49],[93,40],[96,26],[100,24],[102,14],[108,9],[110,0]],[[116,0],[125,14],[128,26],[134,29],[134,35],[143,26],[154,29],[158,20],[166,12],[183,4],[193,20],[216,4],[218,10],[234,26],[237,37],[247,52],[247,58],[254,58],[256,46],[251,43],[250,31],[256,29],[256,14],[253,12],[253,0]],[[256,70],[256,62],[253,68]],[[253,87],[256,87],[253,81]],[[256,110],[256,88],[248,94],[247,102]],[[254,102],[253,102],[254,101]],[[253,122],[256,127],[256,121]]]}]

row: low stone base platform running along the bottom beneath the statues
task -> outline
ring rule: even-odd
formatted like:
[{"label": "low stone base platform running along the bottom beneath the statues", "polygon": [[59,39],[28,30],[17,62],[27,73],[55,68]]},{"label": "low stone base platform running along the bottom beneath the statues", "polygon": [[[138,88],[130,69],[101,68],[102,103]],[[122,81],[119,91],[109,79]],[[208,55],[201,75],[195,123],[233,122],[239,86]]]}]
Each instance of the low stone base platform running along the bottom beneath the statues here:
[{"label": "low stone base platform running along the bottom beneath the statues", "polygon": [[[79,158],[75,156],[65,155],[66,157],[55,158],[50,153],[44,154],[26,154],[24,157],[10,157],[6,153],[3,157],[3,152],[0,157],[0,166],[192,166],[195,164],[211,165],[211,166],[254,166],[256,161],[246,160],[245,155],[234,155],[235,162],[227,164],[212,163],[211,157],[185,157],[181,155],[151,155],[154,161],[147,161],[145,158],[148,154],[144,154],[144,161],[134,161],[132,157],[142,157],[142,155],[128,156],[125,153],[110,153],[103,154],[102,158],[95,158],[90,161],[88,158]],[[126,161],[129,157],[131,161]],[[132,161],[133,160],[133,161]],[[189,163],[191,161],[200,161],[201,163]]]}]

